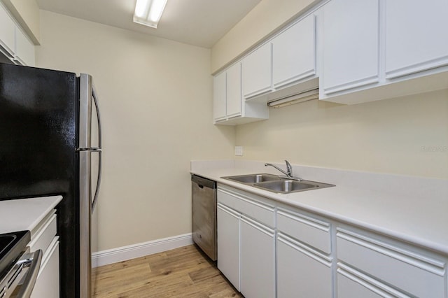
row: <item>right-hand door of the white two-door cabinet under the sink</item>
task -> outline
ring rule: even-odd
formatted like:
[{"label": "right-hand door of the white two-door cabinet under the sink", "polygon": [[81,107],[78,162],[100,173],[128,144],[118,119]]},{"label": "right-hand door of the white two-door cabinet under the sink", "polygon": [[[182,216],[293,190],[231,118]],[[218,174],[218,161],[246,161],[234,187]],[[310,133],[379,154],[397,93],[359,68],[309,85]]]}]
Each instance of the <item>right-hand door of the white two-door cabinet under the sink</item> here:
[{"label": "right-hand door of the white two-door cabinet under the sink", "polygon": [[241,216],[241,293],[275,297],[274,230]]}]

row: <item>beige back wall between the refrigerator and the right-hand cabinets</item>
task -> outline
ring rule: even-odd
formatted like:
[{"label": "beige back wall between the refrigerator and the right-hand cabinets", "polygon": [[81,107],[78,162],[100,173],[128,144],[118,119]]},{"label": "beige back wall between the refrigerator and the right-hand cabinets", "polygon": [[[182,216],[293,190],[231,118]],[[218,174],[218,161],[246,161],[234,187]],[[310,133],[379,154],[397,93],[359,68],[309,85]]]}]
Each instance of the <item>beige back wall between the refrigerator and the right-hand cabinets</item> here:
[{"label": "beige back wall between the refrigerator and the right-hand cabinets", "polygon": [[104,125],[99,250],[191,232],[190,159],[231,158],[210,50],[41,10],[38,66],[92,74]]}]

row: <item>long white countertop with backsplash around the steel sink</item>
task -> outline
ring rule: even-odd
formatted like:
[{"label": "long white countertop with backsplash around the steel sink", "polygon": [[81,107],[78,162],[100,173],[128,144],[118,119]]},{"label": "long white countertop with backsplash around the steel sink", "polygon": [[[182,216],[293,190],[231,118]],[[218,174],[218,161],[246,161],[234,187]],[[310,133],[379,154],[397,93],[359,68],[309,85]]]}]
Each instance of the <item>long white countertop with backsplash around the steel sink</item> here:
[{"label": "long white countertop with backsplash around the steel sink", "polygon": [[448,180],[305,166],[293,170],[305,180],[336,186],[277,194],[221,178],[276,173],[264,163],[192,162],[191,166],[191,173],[218,183],[448,254]]}]

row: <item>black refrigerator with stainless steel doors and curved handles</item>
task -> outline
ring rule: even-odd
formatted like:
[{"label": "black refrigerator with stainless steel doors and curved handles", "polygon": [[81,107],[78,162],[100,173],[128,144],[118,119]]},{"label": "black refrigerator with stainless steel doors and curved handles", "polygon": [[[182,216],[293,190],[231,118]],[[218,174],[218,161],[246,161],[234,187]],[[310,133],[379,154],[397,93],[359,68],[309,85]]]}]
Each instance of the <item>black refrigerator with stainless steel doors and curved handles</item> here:
[{"label": "black refrigerator with stainless steel doors and curved handles", "polygon": [[0,64],[0,200],[62,195],[57,206],[60,297],[93,296],[92,214],[101,168],[92,77]]}]

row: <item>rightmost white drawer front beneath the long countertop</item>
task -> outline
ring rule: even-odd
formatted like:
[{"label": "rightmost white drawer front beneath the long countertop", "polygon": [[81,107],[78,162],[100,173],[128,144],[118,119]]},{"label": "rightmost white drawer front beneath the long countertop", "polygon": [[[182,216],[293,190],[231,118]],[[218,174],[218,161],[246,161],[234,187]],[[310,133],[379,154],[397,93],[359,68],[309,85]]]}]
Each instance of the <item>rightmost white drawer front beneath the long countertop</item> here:
[{"label": "rightmost white drawer front beneath the long countertop", "polygon": [[345,229],[337,229],[337,258],[417,297],[445,297],[446,264]]}]

